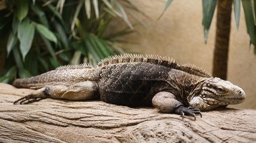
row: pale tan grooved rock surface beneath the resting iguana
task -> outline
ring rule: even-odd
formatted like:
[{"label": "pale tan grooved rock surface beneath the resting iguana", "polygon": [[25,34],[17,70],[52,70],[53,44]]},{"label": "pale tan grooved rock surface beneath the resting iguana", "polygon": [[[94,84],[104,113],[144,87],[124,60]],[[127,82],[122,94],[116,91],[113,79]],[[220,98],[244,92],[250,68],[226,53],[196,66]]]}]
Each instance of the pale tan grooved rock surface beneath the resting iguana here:
[{"label": "pale tan grooved rock surface beneath the resting iguana", "polygon": [[13,101],[33,90],[0,83],[0,142],[256,142],[256,110],[186,117],[101,101]]}]

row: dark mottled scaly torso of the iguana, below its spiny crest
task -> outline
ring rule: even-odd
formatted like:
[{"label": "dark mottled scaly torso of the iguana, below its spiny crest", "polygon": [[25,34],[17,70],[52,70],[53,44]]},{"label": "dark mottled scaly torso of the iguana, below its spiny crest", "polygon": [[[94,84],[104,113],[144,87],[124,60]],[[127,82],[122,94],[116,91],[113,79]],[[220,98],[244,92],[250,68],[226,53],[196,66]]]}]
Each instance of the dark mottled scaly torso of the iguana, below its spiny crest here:
[{"label": "dark mottled scaly torso of the iguana, below its spiny crest", "polygon": [[197,82],[190,80],[195,75],[151,63],[119,63],[101,67],[101,100],[127,106],[148,106],[152,105],[151,100],[156,93],[167,91],[188,105],[188,93],[197,86]]}]

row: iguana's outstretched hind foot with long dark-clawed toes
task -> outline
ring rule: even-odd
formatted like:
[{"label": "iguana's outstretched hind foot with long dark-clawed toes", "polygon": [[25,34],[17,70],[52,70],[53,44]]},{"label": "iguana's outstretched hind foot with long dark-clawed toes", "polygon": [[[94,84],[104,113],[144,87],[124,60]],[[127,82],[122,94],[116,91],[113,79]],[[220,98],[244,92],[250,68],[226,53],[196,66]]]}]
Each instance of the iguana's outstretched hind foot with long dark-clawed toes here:
[{"label": "iguana's outstretched hind foot with long dark-clawed toes", "polygon": [[45,88],[36,90],[33,93],[14,101],[13,104],[16,104],[17,102],[19,102],[20,104],[28,104],[28,103],[39,101],[41,99],[45,99],[48,97],[48,95],[44,91],[45,91]]}]

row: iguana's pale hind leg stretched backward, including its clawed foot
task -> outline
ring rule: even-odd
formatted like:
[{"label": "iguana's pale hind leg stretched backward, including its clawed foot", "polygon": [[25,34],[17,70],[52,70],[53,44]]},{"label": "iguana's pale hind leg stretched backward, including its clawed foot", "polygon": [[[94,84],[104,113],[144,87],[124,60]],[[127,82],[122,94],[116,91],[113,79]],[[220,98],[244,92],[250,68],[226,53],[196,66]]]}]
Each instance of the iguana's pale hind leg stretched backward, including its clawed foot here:
[{"label": "iguana's pale hind leg stretched backward, including its clawed foot", "polygon": [[93,81],[78,82],[69,87],[65,85],[47,85],[31,94],[14,101],[14,104],[28,104],[48,97],[67,100],[88,100],[97,96],[97,85]]}]

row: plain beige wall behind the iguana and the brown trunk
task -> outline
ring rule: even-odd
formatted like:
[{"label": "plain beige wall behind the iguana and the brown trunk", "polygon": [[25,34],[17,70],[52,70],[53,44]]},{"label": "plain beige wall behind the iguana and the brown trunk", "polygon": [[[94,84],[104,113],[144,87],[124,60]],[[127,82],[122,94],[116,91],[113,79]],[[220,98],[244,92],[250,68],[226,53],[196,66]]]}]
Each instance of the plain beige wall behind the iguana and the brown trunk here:
[{"label": "plain beige wall behind the iguana and the brown trunk", "polygon": [[[210,27],[208,42],[204,44],[202,26],[202,1],[174,0],[163,17],[157,21],[166,1],[133,1],[151,20],[145,20],[146,28],[135,27],[138,34],[125,40],[139,44],[124,44],[128,51],[154,53],[174,57],[179,64],[195,64],[208,72],[212,71],[216,13]],[[217,11],[217,10],[216,10]],[[239,30],[232,12],[228,80],[239,85],[246,93],[246,101],[232,107],[256,109],[256,56],[246,32],[244,12],[241,7]]]}]

